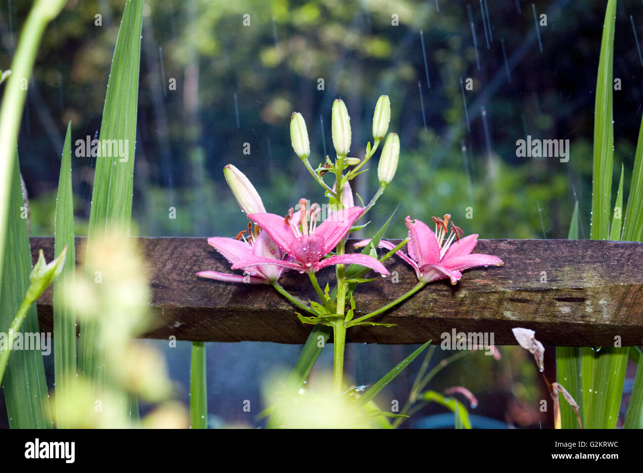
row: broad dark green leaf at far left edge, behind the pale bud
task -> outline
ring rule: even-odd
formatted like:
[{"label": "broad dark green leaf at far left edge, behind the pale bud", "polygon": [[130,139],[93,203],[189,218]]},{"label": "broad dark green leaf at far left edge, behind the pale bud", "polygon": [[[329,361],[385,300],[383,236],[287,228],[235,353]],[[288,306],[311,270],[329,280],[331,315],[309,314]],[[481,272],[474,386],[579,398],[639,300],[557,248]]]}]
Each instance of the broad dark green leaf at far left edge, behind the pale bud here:
[{"label": "broad dark green leaf at far left edge, behind the pale bud", "polygon": [[[26,219],[21,218],[24,202],[20,167],[16,163],[10,186],[5,264],[0,284],[0,331],[6,333],[30,286],[32,255]],[[21,326],[22,333],[40,333],[35,304]],[[11,353],[3,378],[6,411],[12,429],[51,428],[47,384],[41,350],[16,350]]]}]

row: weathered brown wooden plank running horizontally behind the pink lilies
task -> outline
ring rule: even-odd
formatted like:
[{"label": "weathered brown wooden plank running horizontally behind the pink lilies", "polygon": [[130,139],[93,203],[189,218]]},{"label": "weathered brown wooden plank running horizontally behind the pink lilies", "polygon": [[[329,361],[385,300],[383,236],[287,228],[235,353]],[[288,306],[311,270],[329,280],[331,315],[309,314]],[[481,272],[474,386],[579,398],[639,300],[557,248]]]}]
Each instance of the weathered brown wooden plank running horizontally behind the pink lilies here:
[{"label": "weathered brown wooden plank running horizontally behind the pink lilies", "polygon": [[[199,270],[230,271],[204,238],[138,238],[152,275],[150,306],[158,327],[146,337],[238,342],[303,343],[311,326],[270,286],[221,283],[195,277]],[[53,238],[32,237],[32,255],[43,248],[49,261]],[[78,239],[77,246],[82,243]],[[545,345],[623,346],[643,343],[643,245],[590,240],[480,240],[475,252],[498,255],[502,267],[464,272],[455,286],[429,284],[379,322],[394,328],[349,330],[350,342],[419,344],[457,332],[489,332],[496,344],[515,344],[511,328],[536,330]],[[82,252],[77,251],[77,255]],[[397,272],[358,288],[359,317],[403,294],[417,282],[399,258],[386,266]],[[320,279],[332,277],[325,269]],[[546,282],[545,282],[546,277]],[[305,275],[287,272],[281,281],[302,299],[316,296]],[[51,290],[41,297],[43,329],[51,330]]]}]

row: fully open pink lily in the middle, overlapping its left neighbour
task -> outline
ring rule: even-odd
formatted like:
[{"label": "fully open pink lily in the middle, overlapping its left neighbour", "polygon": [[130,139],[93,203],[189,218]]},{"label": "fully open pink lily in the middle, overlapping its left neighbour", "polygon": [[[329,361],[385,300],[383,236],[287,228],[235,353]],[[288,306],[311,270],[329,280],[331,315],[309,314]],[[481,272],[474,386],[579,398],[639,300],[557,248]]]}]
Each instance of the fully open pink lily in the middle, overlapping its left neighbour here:
[{"label": "fully open pink lily in the middle, overlapping its left neighbour", "polygon": [[323,223],[317,225],[317,217],[321,211],[319,205],[313,204],[310,210],[306,210],[306,200],[301,199],[299,207],[299,212],[293,214],[291,209],[285,218],[268,213],[248,215],[248,218],[259,225],[284,253],[292,257],[291,261],[249,255],[234,263],[232,269],[248,268],[257,264],[274,264],[304,273],[316,272],[333,264],[355,263],[376,270],[381,275],[388,275],[384,265],[372,256],[343,254],[323,258],[346,236],[351,225],[361,216],[364,209],[350,207],[334,212]]}]

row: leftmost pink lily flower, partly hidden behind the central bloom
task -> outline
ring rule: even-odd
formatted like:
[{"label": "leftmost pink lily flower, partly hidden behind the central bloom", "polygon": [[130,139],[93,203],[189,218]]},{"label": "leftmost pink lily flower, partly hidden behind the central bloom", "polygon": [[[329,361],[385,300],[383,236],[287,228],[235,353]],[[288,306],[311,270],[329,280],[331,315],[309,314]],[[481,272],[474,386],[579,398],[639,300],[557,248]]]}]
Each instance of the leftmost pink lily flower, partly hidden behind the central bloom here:
[{"label": "leftmost pink lily flower, partly hidden behind the central bloom", "polygon": [[[251,228],[249,222],[248,228]],[[285,252],[275,245],[269,234],[260,231],[258,227],[255,227],[254,232],[250,232],[248,239],[242,236],[244,233],[245,230],[240,232],[237,238],[208,238],[208,244],[214,246],[221,255],[230,261],[233,264],[233,269],[236,269],[234,267],[235,263],[248,258],[284,260]],[[286,257],[285,261],[289,259],[291,258]],[[244,269],[245,275],[201,271],[197,273],[197,276],[232,283],[271,284],[273,281],[278,281],[287,270],[285,267],[275,266],[274,264],[257,264],[251,268]]]}]

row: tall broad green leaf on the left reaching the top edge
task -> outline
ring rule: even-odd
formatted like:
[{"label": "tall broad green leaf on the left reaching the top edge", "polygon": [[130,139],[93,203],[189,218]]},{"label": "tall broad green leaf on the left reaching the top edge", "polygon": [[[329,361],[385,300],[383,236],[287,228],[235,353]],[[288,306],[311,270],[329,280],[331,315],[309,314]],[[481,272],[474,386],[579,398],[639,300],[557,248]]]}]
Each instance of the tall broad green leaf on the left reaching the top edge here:
[{"label": "tall broad green leaf on the left reaching the top edge", "polygon": [[[129,232],[132,214],[142,15],[143,0],[128,0],[116,39],[107,82],[103,120],[100,125],[100,143],[106,144],[106,140],[121,140],[117,141],[119,151],[121,144],[127,147],[127,156],[96,158],[87,234],[90,240],[99,236],[110,224]],[[78,367],[84,375],[100,380],[104,377],[104,369],[102,369],[102,357],[96,352],[97,334],[97,322],[82,324]]]}]

